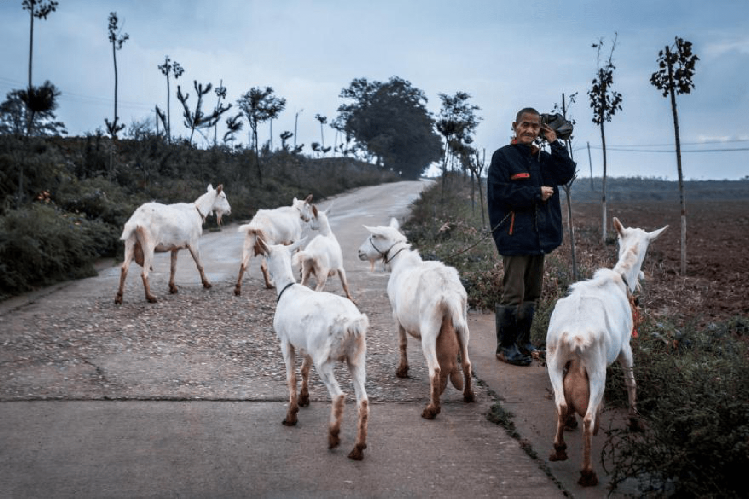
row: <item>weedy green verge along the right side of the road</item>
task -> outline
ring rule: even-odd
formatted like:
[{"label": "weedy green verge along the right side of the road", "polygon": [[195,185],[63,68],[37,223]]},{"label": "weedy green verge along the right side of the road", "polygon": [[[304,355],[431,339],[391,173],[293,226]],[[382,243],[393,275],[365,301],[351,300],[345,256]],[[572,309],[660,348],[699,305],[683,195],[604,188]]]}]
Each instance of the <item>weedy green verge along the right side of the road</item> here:
[{"label": "weedy green verge along the right side of the road", "polygon": [[[458,269],[470,307],[492,310],[502,293],[503,269],[479,199],[471,198],[476,186],[458,175],[446,183],[444,195],[438,184],[422,193],[404,232],[422,257]],[[615,244],[609,240],[600,247],[600,227],[576,231],[577,245],[597,248],[578,252],[580,277],[590,278],[601,266],[592,253],[613,255]],[[568,253],[565,243],[546,259],[534,343],[545,342],[551,310],[572,284]],[[617,484],[634,477],[650,497],[741,497],[742,471],[749,466],[749,317],[715,321],[695,311],[688,319],[672,321],[652,312],[641,311],[639,337],[632,340],[638,408],[647,428],[607,432],[601,456],[612,463],[607,472]],[[626,403],[615,363],[607,374],[606,406]]]}]

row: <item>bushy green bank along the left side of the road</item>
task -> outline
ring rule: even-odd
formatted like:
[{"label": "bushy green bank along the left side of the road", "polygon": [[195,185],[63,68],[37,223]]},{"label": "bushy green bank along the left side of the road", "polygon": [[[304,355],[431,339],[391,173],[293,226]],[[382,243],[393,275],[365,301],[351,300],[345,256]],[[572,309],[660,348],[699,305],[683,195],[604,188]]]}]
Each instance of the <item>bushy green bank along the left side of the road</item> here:
[{"label": "bushy green bank along the left side of the road", "polygon": [[[125,221],[151,200],[192,202],[209,183],[221,183],[231,203],[223,218],[229,224],[294,197],[321,200],[400,179],[344,157],[266,149],[261,162],[262,184],[252,150],[195,149],[148,132],[116,144],[103,135],[0,135],[0,299],[94,275],[97,259],[121,256]],[[208,217],[205,227],[216,230],[216,218]]]}]

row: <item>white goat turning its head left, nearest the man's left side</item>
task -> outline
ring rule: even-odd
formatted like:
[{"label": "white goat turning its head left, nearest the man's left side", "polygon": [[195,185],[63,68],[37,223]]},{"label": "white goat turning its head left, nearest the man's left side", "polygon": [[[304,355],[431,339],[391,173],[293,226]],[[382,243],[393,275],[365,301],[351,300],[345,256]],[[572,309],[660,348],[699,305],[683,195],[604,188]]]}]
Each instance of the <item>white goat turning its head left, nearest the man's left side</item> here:
[{"label": "white goat turning its head left, nearest the man's left side", "polygon": [[[447,379],[463,390],[465,402],[473,402],[471,364],[468,358],[467,294],[458,271],[441,262],[423,261],[398,232],[398,221],[389,226],[367,227],[369,237],[359,248],[359,259],[384,260],[391,267],[387,296],[398,326],[400,362],[395,376],[407,378],[407,334],[422,342],[429,368],[429,403],[422,417],[434,419],[440,412],[440,395]],[[463,379],[456,358],[461,356]],[[465,382],[465,385],[464,385]],[[464,388],[465,386],[465,388]]]}]

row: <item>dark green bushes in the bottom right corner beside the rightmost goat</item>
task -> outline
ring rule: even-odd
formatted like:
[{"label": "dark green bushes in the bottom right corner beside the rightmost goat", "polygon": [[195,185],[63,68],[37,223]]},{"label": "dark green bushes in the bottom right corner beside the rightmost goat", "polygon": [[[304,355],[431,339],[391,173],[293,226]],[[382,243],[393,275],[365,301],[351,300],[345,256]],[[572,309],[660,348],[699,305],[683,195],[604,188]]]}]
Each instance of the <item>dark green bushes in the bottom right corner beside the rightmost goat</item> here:
[{"label": "dark green bushes in the bottom right corner beside the rightmost goat", "polygon": [[[663,324],[634,344],[640,413],[647,429],[607,432],[604,454],[618,484],[637,477],[647,494],[745,497],[749,466],[748,322],[736,319],[688,334]],[[618,369],[607,399],[623,387]],[[619,388],[618,397],[622,397]]]}]

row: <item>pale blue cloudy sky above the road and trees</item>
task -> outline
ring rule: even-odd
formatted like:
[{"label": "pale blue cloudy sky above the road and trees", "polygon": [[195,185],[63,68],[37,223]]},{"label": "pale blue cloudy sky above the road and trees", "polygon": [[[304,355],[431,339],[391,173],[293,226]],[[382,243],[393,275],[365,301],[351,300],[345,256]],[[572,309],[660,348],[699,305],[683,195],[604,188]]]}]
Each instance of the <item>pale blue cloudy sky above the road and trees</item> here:
[{"label": "pale blue cloudy sky above the road and trees", "polygon": [[[575,121],[572,153],[578,177],[603,173],[601,132],[589,97],[613,41],[613,89],[622,110],[605,123],[609,177],[678,178],[670,99],[653,87],[658,51],[676,36],[700,57],[691,94],[676,97],[685,180],[749,175],[749,2],[743,0],[59,0],[34,19],[32,80],[62,94],[56,111],[69,135],[106,129],[114,111],[114,64],[108,16],[116,12],[130,39],[117,52],[121,123],[154,121],[166,108],[166,55],[184,74],[172,80],[173,135],[188,136],[176,85],[219,82],[233,107],[253,87],[273,88],[286,108],[273,121],[297,143],[332,144],[332,121],[354,79],[406,79],[440,111],[439,94],[470,94],[481,122],[474,147],[491,154],[507,144],[518,109],[550,112],[568,105]],[[21,0],[0,0],[0,99],[28,83],[29,16]],[[216,94],[205,97],[206,108]],[[223,122],[223,120],[222,120]],[[223,126],[219,126],[219,140]],[[249,126],[237,136],[247,144]],[[261,142],[270,126],[258,130]],[[294,139],[292,138],[293,142]],[[589,153],[588,153],[589,144]],[[434,171],[434,170],[431,170]]]}]

